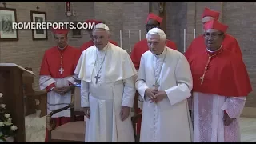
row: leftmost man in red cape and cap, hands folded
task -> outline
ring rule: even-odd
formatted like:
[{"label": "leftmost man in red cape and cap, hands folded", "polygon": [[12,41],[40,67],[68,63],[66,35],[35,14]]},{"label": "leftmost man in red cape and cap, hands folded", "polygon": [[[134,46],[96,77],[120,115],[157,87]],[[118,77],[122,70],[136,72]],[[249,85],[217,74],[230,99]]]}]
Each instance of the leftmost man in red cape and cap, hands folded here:
[{"label": "leftmost man in red cape and cap, hands folded", "polygon": [[[67,44],[68,30],[53,29],[53,33],[57,46],[46,50],[39,74],[40,89],[47,91],[47,114],[70,104],[74,70],[80,56],[79,49]],[[70,109],[58,112],[52,118],[56,126],[70,122]],[[48,130],[45,141],[48,141]]]}]

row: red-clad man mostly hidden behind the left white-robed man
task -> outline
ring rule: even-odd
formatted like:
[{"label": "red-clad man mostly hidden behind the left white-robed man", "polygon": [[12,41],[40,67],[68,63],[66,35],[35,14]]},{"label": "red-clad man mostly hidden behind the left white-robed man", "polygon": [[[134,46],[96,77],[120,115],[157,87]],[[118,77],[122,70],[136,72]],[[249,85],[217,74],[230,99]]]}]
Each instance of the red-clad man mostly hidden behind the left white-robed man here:
[{"label": "red-clad man mostly hidden behind the left white-robed man", "polygon": [[[95,23],[95,25],[97,25],[98,23],[102,23],[102,21],[98,21],[98,20],[94,20],[94,19],[88,19],[86,20],[86,23]],[[88,29],[87,32],[90,34],[90,38],[91,40],[82,44],[82,46],[80,46],[80,51],[82,54],[83,50],[86,50],[87,48],[89,48],[90,46],[94,46],[94,37],[93,37],[93,30]],[[114,42],[112,40],[110,40],[110,43],[114,44],[115,46],[118,46],[118,42]]]}]

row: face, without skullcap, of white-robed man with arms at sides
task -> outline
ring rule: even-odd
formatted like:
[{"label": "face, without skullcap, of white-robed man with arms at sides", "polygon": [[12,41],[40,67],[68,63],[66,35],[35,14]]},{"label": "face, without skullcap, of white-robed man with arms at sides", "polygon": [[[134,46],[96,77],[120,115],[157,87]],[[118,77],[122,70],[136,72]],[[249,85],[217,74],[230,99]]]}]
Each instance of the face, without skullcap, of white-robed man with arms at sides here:
[{"label": "face, without skullcap, of white-robed man with arms at sides", "polygon": [[94,29],[93,38],[94,45],[99,50],[102,50],[106,46],[107,42],[109,42],[110,34],[104,29]]}]

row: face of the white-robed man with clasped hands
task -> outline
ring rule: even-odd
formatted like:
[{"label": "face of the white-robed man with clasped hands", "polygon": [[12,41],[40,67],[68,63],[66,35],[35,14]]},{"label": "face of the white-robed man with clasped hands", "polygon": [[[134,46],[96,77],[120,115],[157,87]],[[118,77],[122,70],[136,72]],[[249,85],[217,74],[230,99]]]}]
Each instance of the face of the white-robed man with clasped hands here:
[{"label": "face of the white-robed man with clasped hands", "polygon": [[152,54],[161,54],[166,46],[166,41],[162,40],[158,34],[150,34],[147,45]]}]

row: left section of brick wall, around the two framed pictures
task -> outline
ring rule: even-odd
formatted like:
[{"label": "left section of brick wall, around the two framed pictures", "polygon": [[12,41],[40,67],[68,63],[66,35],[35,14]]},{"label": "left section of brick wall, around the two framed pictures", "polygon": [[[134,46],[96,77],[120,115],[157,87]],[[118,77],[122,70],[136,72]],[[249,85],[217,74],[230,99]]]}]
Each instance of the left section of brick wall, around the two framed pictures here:
[{"label": "left section of brick wall, around the two framed pictures", "polygon": [[[129,30],[131,30],[131,48],[138,42],[138,30],[142,30],[145,38],[145,19],[148,14],[148,2],[71,2],[71,9],[75,17],[66,17],[65,2],[6,2],[6,7],[17,10],[18,22],[30,22],[30,10],[46,12],[48,22],[83,22],[86,19],[98,18],[110,27],[112,38],[120,45],[119,32],[122,30],[122,47],[129,52]],[[31,30],[18,30],[17,42],[0,42],[0,62],[14,62],[20,66],[32,67],[34,90],[38,90],[38,73],[44,51],[54,46],[53,34],[48,31],[47,41],[33,41]],[[79,47],[90,40],[90,36],[83,30],[82,38],[72,38],[69,34],[71,46]]]}]

